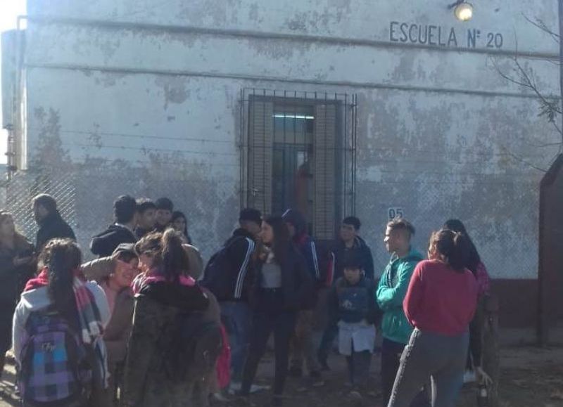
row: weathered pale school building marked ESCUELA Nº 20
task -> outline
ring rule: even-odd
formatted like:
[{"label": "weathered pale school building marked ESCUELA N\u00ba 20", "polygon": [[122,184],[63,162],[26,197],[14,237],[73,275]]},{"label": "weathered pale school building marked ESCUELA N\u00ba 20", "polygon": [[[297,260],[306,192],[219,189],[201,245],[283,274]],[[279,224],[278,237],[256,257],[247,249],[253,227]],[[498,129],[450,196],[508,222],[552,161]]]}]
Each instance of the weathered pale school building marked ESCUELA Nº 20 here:
[{"label": "weathered pale school building marked ESCUELA N\u00ba 20", "polygon": [[241,207],[297,207],[320,240],[356,214],[379,270],[390,217],[422,252],[459,218],[501,324],[533,327],[561,136],[503,74],[557,100],[559,44],[532,23],[557,30],[557,2],[474,0],[463,22],[451,1],[27,0],[3,41],[8,207],[32,233],[51,191],[87,247],[116,196],[169,196],[206,257]]}]

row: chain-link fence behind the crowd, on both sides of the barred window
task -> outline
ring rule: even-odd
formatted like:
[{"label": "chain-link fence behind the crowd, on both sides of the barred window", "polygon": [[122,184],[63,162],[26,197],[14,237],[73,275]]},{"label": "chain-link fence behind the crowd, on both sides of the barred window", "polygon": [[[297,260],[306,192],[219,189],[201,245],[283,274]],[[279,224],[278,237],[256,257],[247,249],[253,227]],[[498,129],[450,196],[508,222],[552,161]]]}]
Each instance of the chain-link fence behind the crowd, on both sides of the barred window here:
[{"label": "chain-link fence behind the crowd, on both sides of the barred window", "polygon": [[[186,214],[189,233],[208,258],[232,233],[239,211],[238,174],[212,176],[212,169],[190,167],[111,167],[84,166],[68,171],[17,172],[1,188],[6,193],[2,207],[13,212],[15,222],[34,241],[37,226],[31,200],[49,193],[58,202],[63,218],[75,230],[90,258],[91,237],[113,221],[113,201],[119,195],[135,198],[166,196],[175,209]],[[358,217],[362,236],[372,247],[376,276],[383,271],[389,254],[383,238],[389,212],[402,212],[417,228],[413,245],[424,254],[431,231],[450,218],[462,219],[474,243],[495,278],[521,278],[536,271],[537,214],[523,214],[519,205],[535,207],[537,185],[533,179],[479,181],[475,193],[472,179],[424,179],[407,181],[360,181],[357,188]],[[469,191],[469,192],[468,192]],[[1,194],[0,194],[1,196]],[[338,222],[339,220],[336,219]],[[524,232],[527,234],[524,235]],[[510,259],[510,261],[507,261]]]}]

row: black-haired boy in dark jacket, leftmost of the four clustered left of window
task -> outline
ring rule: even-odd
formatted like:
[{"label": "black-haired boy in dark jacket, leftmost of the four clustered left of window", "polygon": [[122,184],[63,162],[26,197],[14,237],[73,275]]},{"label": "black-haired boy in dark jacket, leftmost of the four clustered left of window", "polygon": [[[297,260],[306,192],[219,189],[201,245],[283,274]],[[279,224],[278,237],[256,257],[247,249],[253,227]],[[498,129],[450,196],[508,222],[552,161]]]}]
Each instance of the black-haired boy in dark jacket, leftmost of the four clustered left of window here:
[{"label": "black-haired boy in dark jacket, leftmost of the four clustered left of window", "polygon": [[115,224],[110,225],[90,243],[90,250],[99,257],[108,257],[121,243],[136,243],[133,230],[137,217],[137,202],[129,195],[121,195],[113,202]]}]

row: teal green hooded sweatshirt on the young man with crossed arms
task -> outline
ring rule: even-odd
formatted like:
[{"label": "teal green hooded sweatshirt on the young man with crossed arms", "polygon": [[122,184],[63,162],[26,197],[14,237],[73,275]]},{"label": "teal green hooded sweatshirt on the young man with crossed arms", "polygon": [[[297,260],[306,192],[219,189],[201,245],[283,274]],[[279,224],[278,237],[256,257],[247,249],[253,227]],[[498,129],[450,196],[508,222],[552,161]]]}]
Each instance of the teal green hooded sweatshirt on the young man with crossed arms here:
[{"label": "teal green hooded sweatshirt on the young man with crossed arms", "polygon": [[409,342],[414,328],[403,311],[403,300],[407,295],[412,273],[422,259],[422,254],[412,248],[405,257],[393,254],[379,280],[376,299],[383,311],[381,331],[387,340],[400,344]]}]

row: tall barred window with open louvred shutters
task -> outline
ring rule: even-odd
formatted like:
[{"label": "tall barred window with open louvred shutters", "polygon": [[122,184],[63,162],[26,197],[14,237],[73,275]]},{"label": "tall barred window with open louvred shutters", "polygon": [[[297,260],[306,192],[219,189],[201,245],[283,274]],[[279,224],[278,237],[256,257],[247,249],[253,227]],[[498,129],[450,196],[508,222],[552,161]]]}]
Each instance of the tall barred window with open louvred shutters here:
[{"label": "tall barred window with open louvred shutters", "polygon": [[319,240],[355,212],[355,96],[241,91],[241,206],[298,209]]}]

